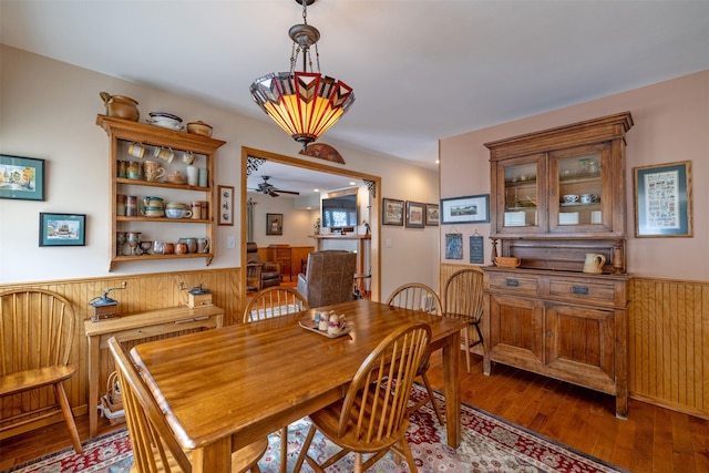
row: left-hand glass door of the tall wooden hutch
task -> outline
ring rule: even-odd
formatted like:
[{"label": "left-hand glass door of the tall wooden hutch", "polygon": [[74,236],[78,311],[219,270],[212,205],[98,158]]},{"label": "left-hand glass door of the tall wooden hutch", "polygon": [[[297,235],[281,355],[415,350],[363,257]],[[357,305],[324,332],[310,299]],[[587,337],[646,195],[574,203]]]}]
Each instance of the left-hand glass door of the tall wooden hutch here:
[{"label": "left-hand glass door of the tall wooden hutch", "polygon": [[[543,183],[540,176],[543,160],[538,155],[527,156],[520,160],[510,160],[503,164],[504,182],[501,183],[502,193],[500,197],[504,213],[501,229],[507,232],[537,232],[540,226],[544,226],[545,217],[540,215],[537,207],[544,208],[545,196],[540,192]],[[542,198],[543,202],[540,202]]]}]

